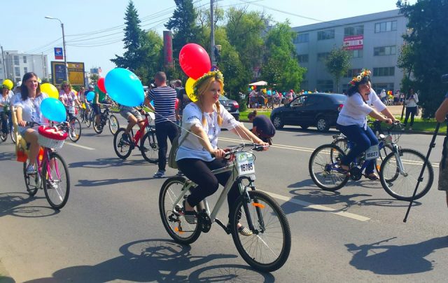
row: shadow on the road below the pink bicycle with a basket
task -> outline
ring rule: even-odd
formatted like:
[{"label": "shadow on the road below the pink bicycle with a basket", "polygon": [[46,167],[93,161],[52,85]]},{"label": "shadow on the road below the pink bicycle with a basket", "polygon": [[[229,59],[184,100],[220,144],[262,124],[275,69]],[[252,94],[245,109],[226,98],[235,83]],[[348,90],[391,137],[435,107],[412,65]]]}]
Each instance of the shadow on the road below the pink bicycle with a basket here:
[{"label": "shadow on the road below the pink bicycle with a basket", "polygon": [[59,211],[51,207],[22,206],[29,202],[43,199],[44,197],[30,197],[27,193],[1,193],[0,194],[0,217],[13,215],[18,217],[45,217],[58,214]]}]

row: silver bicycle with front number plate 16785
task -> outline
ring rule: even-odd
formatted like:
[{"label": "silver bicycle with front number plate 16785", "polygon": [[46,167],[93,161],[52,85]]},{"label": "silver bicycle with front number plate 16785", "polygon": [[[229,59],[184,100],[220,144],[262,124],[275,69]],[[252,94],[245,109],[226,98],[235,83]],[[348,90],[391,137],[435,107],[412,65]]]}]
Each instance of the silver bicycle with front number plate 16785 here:
[{"label": "silver bicycle with front number plate 16785", "polygon": [[[256,270],[272,272],[286,263],[290,253],[291,235],[288,219],[267,193],[255,191],[255,156],[253,150],[262,150],[262,146],[252,144],[252,149],[243,151],[247,145],[235,146],[226,156],[230,156],[228,166],[213,170],[214,174],[232,172],[232,177],[224,186],[210,212],[207,199],[197,205],[197,221],[189,224],[179,212],[186,200],[190,188],[196,184],[185,177],[171,177],[160,189],[159,209],[163,226],[176,242],[191,244],[202,232],[207,233],[211,224],[218,223],[225,233],[232,234],[233,241],[241,257]],[[230,161],[231,160],[231,161]],[[245,182],[248,181],[246,185]],[[216,218],[225,202],[232,185],[237,182],[241,195],[230,208],[230,223],[225,226]],[[241,213],[241,210],[244,213]],[[253,235],[239,235],[237,224],[248,227]]]}]

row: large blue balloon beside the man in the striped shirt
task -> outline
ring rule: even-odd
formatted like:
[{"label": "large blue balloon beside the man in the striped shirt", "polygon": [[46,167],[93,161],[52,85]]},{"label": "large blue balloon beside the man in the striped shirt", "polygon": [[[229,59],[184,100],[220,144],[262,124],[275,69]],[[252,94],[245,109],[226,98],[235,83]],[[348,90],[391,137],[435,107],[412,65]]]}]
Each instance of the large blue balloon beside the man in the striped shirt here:
[{"label": "large blue balloon beside the man in the striped shirt", "polygon": [[132,71],[116,68],[109,71],[104,82],[111,99],[125,106],[139,106],[145,100],[145,92],[139,78]]}]

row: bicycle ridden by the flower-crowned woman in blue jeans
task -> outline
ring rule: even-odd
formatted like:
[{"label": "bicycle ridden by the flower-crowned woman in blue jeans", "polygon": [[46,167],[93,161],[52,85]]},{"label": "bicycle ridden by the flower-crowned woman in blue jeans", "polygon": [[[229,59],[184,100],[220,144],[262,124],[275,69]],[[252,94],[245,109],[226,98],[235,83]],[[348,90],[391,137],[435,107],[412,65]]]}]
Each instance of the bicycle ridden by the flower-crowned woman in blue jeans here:
[{"label": "bicycle ridden by the flower-crowned woman in blue jeans", "polygon": [[[349,143],[350,144],[350,143]],[[393,141],[392,134],[379,135],[379,144],[370,147],[361,153],[349,166],[349,176],[340,167],[340,161],[346,156],[344,150],[335,144],[319,146],[309,158],[309,174],[314,184],[325,191],[337,191],[342,188],[349,179],[358,181],[363,175],[363,170],[370,162],[379,157],[379,151],[390,144],[391,153],[381,162],[379,180],[384,191],[397,200],[410,200],[413,189],[418,181],[425,156],[414,149],[401,149]],[[414,199],[422,198],[428,193],[434,180],[433,166],[428,163],[421,179],[421,186]]]}]

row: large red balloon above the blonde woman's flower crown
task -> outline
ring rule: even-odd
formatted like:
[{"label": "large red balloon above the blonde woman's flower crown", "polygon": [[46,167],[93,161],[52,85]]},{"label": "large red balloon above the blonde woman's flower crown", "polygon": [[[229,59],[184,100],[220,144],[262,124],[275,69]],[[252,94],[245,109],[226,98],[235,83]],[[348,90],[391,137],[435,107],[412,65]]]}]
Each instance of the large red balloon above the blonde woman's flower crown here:
[{"label": "large red balloon above the blonde woman's flower crown", "polygon": [[179,64],[187,76],[197,80],[211,68],[207,51],[196,43],[188,43],[179,53]]}]

